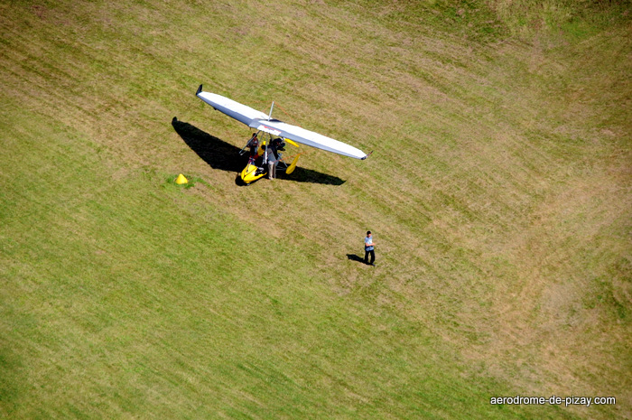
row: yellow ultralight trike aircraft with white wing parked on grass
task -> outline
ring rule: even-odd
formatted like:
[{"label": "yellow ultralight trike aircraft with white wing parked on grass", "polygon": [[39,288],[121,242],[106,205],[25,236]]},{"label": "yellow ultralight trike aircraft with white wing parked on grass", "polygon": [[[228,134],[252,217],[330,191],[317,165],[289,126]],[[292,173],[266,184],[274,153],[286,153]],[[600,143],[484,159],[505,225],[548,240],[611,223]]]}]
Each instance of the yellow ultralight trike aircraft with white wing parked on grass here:
[{"label": "yellow ultralight trike aircraft with white wing parked on grass", "polygon": [[[250,153],[246,168],[244,168],[240,174],[242,181],[245,182],[246,185],[255,182],[267,173],[268,165],[266,163],[275,160],[278,155],[277,151],[284,150],[285,142],[295,147],[299,147],[299,143],[302,145],[310,145],[328,152],[342,154],[360,160],[367,159],[369,156],[369,154],[365,154],[352,145],[347,145],[325,135],[305,130],[300,126],[291,126],[278,119],[273,119],[272,111],[274,109],[274,102],[272,103],[272,107],[270,107],[270,113],[265,115],[265,113],[261,111],[247,107],[232,99],[222,97],[215,93],[204,92],[202,91],[202,85],[198,88],[196,96],[219,112],[226,114],[228,117],[235,118],[240,123],[246,124],[246,126],[256,130],[256,133],[250,137],[244,148],[239,152],[239,154],[245,154],[246,149],[249,149]],[[274,154],[274,157],[272,154]],[[301,154],[296,154],[290,165],[283,163],[283,166],[281,166],[279,170],[284,170],[285,173],[288,174],[293,173],[300,156]]]}]

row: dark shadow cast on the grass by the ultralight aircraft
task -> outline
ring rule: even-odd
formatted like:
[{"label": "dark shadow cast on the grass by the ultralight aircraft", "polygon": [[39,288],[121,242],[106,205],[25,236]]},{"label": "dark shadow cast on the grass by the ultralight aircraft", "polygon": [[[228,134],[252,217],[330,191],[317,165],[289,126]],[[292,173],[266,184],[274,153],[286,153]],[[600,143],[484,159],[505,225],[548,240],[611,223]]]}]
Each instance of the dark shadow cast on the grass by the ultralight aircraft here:
[{"label": "dark shadow cast on the grass by the ultralight aircraft", "polygon": [[[240,156],[237,146],[230,145],[214,135],[209,135],[209,133],[200,130],[196,126],[179,121],[177,117],[173,117],[172,126],[175,132],[181,136],[184,143],[191,147],[191,150],[198,154],[204,162],[209,163],[211,168],[237,173],[237,180],[240,181],[238,173],[246,167],[248,162],[247,154]],[[295,182],[312,182],[327,185],[342,185],[344,183],[337,176],[301,167],[296,167],[292,175],[286,175],[279,171],[278,177]],[[237,184],[239,184],[238,181],[236,181]]]}]

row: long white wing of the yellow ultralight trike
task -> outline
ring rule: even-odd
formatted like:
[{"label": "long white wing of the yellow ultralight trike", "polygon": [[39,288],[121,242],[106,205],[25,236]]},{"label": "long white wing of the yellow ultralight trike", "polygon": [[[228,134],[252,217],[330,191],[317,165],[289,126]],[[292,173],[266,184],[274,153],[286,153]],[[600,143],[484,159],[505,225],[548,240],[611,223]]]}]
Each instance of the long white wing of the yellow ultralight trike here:
[{"label": "long white wing of the yellow ultralight trike", "polygon": [[256,130],[264,131],[265,133],[269,133],[271,135],[289,138],[290,140],[301,143],[302,145],[309,145],[311,147],[326,150],[327,152],[342,154],[356,159],[367,158],[367,154],[358,148],[339,142],[338,140],[326,135],[320,135],[300,126],[292,126],[276,119],[268,121],[268,116],[261,111],[257,111],[256,109],[247,107],[246,105],[215,93],[203,92],[202,85],[198,88],[196,95],[219,112],[226,114],[228,117],[235,118],[237,121],[251,128],[255,128]]}]

